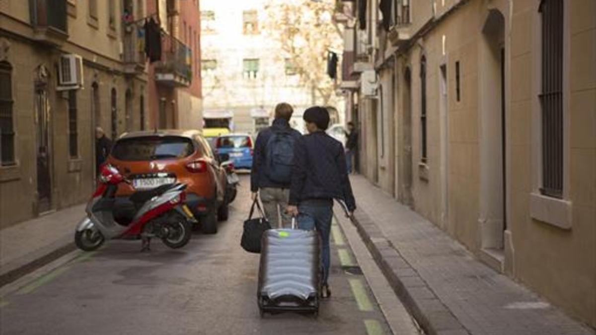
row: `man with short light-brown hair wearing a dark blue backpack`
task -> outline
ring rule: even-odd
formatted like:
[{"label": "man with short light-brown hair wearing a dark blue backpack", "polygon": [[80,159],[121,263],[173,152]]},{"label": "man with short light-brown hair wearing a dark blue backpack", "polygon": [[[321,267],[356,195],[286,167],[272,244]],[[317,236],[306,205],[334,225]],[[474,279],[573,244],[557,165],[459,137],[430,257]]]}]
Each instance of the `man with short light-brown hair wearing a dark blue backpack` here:
[{"label": "man with short light-brown hair wearing a dark blue backpack", "polygon": [[275,106],[273,125],[260,131],[254,144],[250,190],[253,201],[260,196],[265,216],[274,228],[291,226],[285,207],[290,197],[294,142],[302,136],[290,127],[293,113],[290,104]]}]

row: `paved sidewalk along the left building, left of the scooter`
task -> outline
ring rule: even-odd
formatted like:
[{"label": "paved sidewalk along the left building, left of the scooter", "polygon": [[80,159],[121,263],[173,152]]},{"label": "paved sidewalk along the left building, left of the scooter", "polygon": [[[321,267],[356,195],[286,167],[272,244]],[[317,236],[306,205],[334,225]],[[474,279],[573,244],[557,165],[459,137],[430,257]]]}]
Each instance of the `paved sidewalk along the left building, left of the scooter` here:
[{"label": "paved sidewalk along the left building, left of the scooter", "polygon": [[0,287],[75,250],[75,226],[85,204],[0,230]]}]

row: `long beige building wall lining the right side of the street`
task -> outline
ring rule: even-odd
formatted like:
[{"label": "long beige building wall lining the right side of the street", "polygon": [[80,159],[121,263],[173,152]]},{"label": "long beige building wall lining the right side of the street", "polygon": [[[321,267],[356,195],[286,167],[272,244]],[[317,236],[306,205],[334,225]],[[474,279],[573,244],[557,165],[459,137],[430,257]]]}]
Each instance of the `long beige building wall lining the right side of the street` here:
[{"label": "long beige building wall lining the right side of the street", "polygon": [[361,172],[595,327],[596,2],[351,5]]}]

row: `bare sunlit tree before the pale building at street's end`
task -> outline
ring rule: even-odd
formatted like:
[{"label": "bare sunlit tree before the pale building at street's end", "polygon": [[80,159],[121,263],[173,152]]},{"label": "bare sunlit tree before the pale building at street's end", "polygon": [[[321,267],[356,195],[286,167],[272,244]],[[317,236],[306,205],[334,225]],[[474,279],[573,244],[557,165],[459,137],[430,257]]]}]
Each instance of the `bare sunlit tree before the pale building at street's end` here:
[{"label": "bare sunlit tree before the pale building at street's end", "polygon": [[336,0],[268,0],[263,29],[280,47],[300,76],[300,83],[311,89],[312,103],[336,103],[336,83],[327,75],[328,50],[343,49],[343,28],[333,20]]}]

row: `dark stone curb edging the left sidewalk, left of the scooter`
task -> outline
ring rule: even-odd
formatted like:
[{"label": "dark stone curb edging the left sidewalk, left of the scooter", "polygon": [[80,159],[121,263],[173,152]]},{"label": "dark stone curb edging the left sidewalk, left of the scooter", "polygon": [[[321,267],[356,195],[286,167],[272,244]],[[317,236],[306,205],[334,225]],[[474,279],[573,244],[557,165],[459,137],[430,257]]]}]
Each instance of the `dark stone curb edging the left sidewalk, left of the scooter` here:
[{"label": "dark stone curb edging the left sidewalk, left of the scooter", "polygon": [[8,268],[8,271],[0,274],[0,287],[10,284],[76,249],[75,243],[72,241],[58,243],[35,252],[33,256],[27,255],[27,260],[24,262],[17,260],[17,264],[6,265],[5,268]]}]

